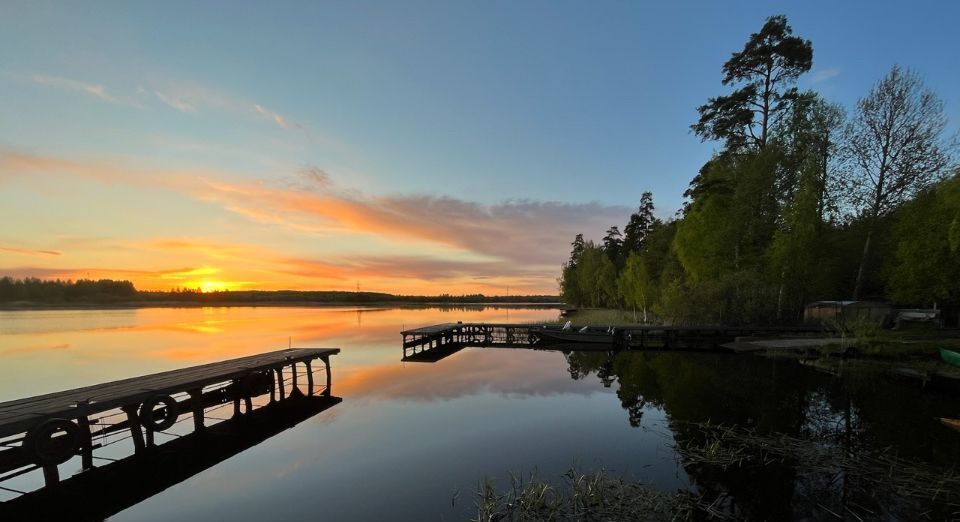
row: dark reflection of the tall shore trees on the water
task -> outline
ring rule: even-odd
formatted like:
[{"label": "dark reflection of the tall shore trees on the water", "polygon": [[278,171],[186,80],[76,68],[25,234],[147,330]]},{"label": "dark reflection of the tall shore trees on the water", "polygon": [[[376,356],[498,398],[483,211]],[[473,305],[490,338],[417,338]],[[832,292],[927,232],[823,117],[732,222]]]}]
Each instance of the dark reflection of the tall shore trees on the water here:
[{"label": "dark reflection of the tall shore trees on the water", "polygon": [[[642,426],[649,408],[663,410],[697,493],[722,499],[723,510],[738,519],[958,514],[958,492],[920,491],[926,479],[916,471],[929,472],[931,489],[944,477],[956,484],[960,438],[936,420],[956,416],[955,398],[868,372],[831,376],[792,360],[666,352],[565,356],[573,379],[595,376],[605,387],[616,386],[630,425]],[[718,436],[710,428],[717,425],[735,430]],[[788,447],[787,441],[794,450],[777,453],[774,447]],[[734,459],[690,457],[724,451]],[[879,478],[885,473],[889,480]],[[897,482],[897,474],[912,478]]]}]

